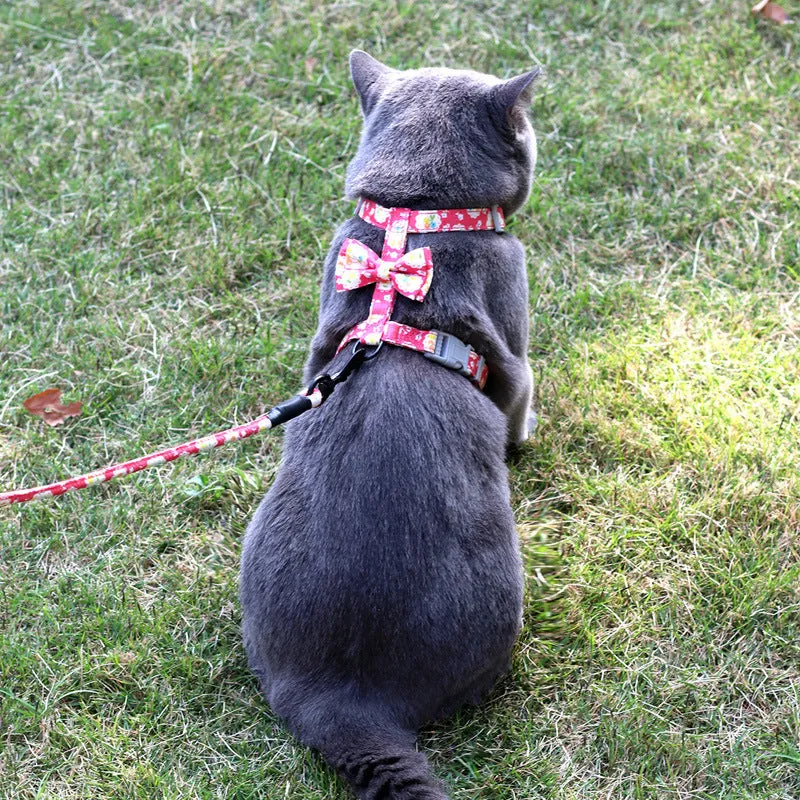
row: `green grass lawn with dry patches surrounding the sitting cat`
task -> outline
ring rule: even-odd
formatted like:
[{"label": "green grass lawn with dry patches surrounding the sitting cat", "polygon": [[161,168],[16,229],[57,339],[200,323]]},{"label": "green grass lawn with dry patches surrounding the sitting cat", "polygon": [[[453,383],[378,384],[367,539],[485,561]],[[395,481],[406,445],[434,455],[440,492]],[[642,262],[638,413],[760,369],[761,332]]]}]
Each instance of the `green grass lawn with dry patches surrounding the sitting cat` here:
[{"label": "green grass lawn with dry patches surrounding the sitting cat", "polygon": [[[541,414],[510,465],[526,627],[421,745],[454,800],[797,798],[800,42],[750,5],[3,3],[0,488],[298,389],[352,213],[351,48],[541,63],[511,223]],[[49,386],[83,416],[28,415]],[[239,639],[280,446],[0,509],[0,797],[349,797]]]}]

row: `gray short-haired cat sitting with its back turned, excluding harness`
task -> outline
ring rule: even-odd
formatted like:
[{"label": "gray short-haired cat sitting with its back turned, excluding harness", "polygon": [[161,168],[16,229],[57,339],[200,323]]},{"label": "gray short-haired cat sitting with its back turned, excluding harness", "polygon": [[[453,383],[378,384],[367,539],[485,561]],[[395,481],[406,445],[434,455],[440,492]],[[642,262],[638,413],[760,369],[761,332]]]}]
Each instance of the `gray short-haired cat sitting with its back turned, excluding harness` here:
[{"label": "gray short-haired cat sitting with its back turned, excluding harness", "polygon": [[[364,130],[347,194],[385,207],[525,202],[536,159],[526,117],[538,70],[508,81],[398,71],[350,56]],[[306,379],[368,313],[371,289],[336,292],[343,240],[381,251],[358,216],[325,262]],[[527,277],[507,233],[410,234],[430,247],[424,302],[392,318],[454,334],[485,356],[481,392],[419,353],[384,345],[319,410],[288,425],[275,483],[244,542],[250,665],[270,705],[365,800],[447,800],[416,752],[420,725],[477,702],[509,665],[522,570],[506,448],[528,435]]]}]

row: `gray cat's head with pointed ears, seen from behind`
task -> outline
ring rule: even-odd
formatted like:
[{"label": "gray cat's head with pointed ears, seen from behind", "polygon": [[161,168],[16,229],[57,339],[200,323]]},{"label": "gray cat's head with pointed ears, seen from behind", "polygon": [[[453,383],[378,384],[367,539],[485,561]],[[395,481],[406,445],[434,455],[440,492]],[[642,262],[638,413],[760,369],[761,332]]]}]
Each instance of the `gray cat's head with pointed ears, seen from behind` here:
[{"label": "gray cat's head with pointed ears, seen from behind", "polygon": [[391,69],[360,50],[350,72],[364,129],[347,194],[384,206],[464,208],[527,199],[536,137],[526,116],[536,69],[502,81],[479,72]]}]

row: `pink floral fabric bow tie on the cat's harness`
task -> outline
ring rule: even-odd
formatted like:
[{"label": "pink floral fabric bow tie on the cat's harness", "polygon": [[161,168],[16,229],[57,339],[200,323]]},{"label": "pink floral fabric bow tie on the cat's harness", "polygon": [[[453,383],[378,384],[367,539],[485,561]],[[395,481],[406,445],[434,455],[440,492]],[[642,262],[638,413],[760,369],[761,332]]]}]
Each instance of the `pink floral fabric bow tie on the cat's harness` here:
[{"label": "pink floral fabric bow tie on the cat's harness", "polygon": [[400,294],[421,303],[432,278],[433,260],[429,247],[411,250],[397,261],[384,261],[363,242],[345,239],[336,262],[337,292],[386,281]]}]

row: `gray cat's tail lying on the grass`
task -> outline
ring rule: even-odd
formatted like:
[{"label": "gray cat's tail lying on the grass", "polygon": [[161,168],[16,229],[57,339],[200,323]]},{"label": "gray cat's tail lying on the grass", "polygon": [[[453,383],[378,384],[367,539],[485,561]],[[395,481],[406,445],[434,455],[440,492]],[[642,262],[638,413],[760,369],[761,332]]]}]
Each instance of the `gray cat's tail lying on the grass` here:
[{"label": "gray cat's tail lying on the grass", "polygon": [[314,705],[313,726],[292,727],[345,778],[360,800],[449,800],[428,760],[415,749],[414,731],[374,708],[367,712],[338,703],[324,709]]}]

